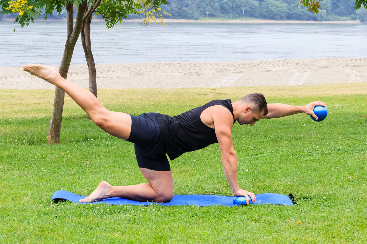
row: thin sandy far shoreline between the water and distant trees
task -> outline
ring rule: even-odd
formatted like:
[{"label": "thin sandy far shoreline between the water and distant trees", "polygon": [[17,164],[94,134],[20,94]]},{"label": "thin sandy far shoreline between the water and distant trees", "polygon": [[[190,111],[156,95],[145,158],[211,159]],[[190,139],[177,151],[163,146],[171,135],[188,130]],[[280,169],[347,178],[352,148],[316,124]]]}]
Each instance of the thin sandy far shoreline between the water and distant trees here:
[{"label": "thin sandy far shoreline between the water and distant trees", "polygon": [[[6,18],[1,19],[1,21],[12,21],[14,19]],[[50,22],[57,22],[57,21],[65,21],[66,19],[35,19],[35,22],[39,21],[50,21]],[[104,22],[103,19],[93,19],[93,22]],[[124,19],[123,22],[142,22],[143,19]],[[355,21],[298,21],[298,20],[272,20],[272,19],[228,19],[228,20],[217,20],[217,19],[208,19],[208,20],[195,20],[195,19],[163,19],[164,23],[290,23],[290,24],[297,24],[297,23],[312,23],[312,24],[363,24],[359,20]],[[151,21],[154,23],[154,21]],[[157,19],[157,23],[160,23],[160,20]]]}]

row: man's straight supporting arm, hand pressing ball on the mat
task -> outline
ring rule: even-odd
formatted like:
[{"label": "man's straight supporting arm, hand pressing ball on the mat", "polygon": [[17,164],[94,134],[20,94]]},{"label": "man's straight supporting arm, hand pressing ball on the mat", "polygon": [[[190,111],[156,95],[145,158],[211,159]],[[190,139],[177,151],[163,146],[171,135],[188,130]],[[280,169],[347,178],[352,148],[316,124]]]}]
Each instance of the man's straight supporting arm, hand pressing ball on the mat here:
[{"label": "man's straight supporting arm, hand pressing ball on the mat", "polygon": [[233,195],[246,197],[247,203],[249,201],[248,196],[250,196],[254,203],[256,200],[254,193],[240,189],[238,185],[237,155],[233,148],[231,133],[233,126],[232,114],[228,109],[224,108],[221,112],[218,111],[213,115],[213,121],[215,134],[221,149],[223,171],[233,191]]}]

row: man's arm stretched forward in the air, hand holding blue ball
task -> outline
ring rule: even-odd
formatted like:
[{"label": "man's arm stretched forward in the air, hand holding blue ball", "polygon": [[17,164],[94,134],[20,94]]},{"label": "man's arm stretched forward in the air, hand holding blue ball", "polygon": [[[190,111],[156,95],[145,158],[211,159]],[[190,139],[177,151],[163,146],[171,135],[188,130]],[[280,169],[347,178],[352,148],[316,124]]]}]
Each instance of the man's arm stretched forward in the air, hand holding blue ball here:
[{"label": "man's arm stretched forward in the air, hand holding blue ball", "polygon": [[308,115],[312,115],[313,118],[317,119],[317,116],[313,113],[313,107],[315,106],[326,107],[326,104],[322,101],[313,101],[309,104],[306,104],[305,106],[292,106],[283,103],[269,103],[268,114],[264,116],[263,119],[280,118],[302,112]]}]

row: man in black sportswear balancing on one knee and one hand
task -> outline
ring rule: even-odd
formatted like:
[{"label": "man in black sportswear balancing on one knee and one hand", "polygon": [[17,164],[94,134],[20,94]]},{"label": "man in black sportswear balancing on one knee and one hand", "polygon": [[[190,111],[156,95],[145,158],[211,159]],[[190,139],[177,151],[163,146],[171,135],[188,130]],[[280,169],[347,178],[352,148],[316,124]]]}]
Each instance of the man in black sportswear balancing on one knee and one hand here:
[{"label": "man in black sportswear balancing on one knee and one hand", "polygon": [[92,93],[62,78],[55,67],[28,64],[23,70],[63,89],[97,126],[135,145],[139,169],[148,184],[112,186],[102,181],[88,197],[79,202],[94,202],[109,197],[142,202],[169,202],[174,193],[166,153],[173,160],[186,151],[194,151],[217,142],[221,149],[224,174],[233,195],[246,197],[247,203],[248,197],[251,197],[252,202],[255,202],[254,193],[240,189],[238,185],[237,156],[231,133],[233,124],[238,121],[240,125],[252,126],[262,118],[279,118],[299,112],[317,119],[313,107],[326,106],[321,101],[301,107],[280,103],[266,104],[263,95],[254,93],[235,102],[229,99],[213,100],[172,118],[157,113],[132,116],[107,110]]}]

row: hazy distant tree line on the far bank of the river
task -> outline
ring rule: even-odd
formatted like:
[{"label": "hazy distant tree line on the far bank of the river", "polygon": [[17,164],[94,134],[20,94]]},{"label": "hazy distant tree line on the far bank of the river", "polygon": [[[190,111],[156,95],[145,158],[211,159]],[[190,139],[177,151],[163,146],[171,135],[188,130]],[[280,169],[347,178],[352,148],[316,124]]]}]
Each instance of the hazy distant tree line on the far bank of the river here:
[{"label": "hazy distant tree line on the far bank of the river", "polygon": [[[323,0],[318,14],[307,10],[299,4],[299,0],[168,0],[168,5],[161,5],[169,19],[200,19],[206,18],[257,18],[273,20],[301,21],[367,21],[367,10],[362,6],[355,10],[355,1]],[[1,9],[0,9],[1,11]],[[14,14],[15,15],[15,14]],[[12,18],[1,15],[1,18]],[[48,16],[48,19],[66,18],[66,10]],[[98,16],[98,18],[101,18]],[[130,18],[143,18],[142,15],[130,15]]]}]

